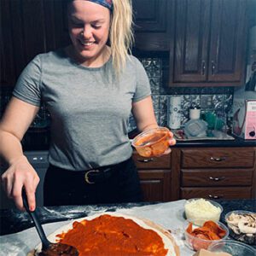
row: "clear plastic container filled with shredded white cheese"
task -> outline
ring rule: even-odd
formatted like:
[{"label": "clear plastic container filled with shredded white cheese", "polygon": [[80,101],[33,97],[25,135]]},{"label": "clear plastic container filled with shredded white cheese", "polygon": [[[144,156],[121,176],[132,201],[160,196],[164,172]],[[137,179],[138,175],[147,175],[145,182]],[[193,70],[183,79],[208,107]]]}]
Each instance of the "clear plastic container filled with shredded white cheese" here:
[{"label": "clear plastic container filled with shredded white cheese", "polygon": [[[210,212],[207,207],[199,208],[194,207],[193,209],[189,209],[188,205],[190,203],[196,203],[198,201],[207,201],[213,207],[217,207],[215,211]],[[220,218],[221,212],[223,212],[223,207],[218,204],[216,201],[203,199],[203,198],[192,198],[186,201],[185,203],[185,215],[187,219],[193,220],[193,224],[202,225],[207,220],[212,220],[214,222],[218,222]]]}]

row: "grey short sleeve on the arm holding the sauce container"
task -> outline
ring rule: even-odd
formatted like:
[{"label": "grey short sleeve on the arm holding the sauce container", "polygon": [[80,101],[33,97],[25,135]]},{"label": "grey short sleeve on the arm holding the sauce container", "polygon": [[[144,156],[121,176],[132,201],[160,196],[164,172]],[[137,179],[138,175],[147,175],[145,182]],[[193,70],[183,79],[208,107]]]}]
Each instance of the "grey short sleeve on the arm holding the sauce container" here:
[{"label": "grey short sleeve on the arm holding the sauce container", "polygon": [[139,102],[151,95],[150,84],[148,75],[143,67],[143,64],[135,58],[136,61],[136,73],[137,73],[137,84],[136,91],[133,96],[132,102]]}]

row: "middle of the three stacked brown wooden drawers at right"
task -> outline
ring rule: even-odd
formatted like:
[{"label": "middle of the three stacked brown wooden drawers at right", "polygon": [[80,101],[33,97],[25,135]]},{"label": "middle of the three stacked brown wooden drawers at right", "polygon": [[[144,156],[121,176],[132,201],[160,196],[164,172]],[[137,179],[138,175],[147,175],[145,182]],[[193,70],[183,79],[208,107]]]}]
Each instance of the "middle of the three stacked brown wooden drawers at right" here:
[{"label": "middle of the three stacked brown wooden drawers at right", "polygon": [[253,183],[253,169],[183,169],[183,187],[249,186]]}]

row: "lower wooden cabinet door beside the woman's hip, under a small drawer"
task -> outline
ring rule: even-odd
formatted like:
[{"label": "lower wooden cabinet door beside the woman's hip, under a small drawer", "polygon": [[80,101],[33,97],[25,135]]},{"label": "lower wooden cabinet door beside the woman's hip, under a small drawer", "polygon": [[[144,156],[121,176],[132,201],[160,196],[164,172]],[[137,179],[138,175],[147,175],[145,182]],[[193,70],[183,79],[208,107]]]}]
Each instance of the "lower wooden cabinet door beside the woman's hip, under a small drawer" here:
[{"label": "lower wooden cabinet door beside the woman's hip, under a small drawer", "polygon": [[138,171],[144,201],[171,201],[171,172],[163,170]]}]

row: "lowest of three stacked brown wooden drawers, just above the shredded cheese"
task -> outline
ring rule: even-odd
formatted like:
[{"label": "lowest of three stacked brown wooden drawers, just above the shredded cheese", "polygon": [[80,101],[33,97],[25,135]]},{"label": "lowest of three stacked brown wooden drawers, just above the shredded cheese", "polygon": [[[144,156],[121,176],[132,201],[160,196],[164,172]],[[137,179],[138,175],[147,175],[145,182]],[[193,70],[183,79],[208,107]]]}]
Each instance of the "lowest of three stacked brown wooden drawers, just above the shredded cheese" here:
[{"label": "lowest of three stacked brown wooden drawers, just above the shredded cheese", "polygon": [[230,187],[230,188],[182,188],[181,199],[189,198],[207,199],[247,199],[252,198],[252,187]]}]

